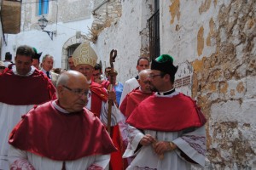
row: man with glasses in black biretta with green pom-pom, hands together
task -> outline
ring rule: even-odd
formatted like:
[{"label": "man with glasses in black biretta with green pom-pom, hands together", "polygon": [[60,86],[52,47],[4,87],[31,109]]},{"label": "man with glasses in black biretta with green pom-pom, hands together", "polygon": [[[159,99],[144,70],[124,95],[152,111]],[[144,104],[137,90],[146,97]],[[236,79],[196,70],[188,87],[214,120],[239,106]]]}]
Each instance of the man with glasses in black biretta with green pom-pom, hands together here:
[{"label": "man with glasses in black biretta with green pom-pom, hands together", "polygon": [[[205,116],[195,100],[174,88],[177,67],[168,54],[152,61],[149,82],[156,93],[131,113],[125,156],[135,156],[130,169],[191,169],[205,165]],[[138,130],[139,129],[139,130]]]}]

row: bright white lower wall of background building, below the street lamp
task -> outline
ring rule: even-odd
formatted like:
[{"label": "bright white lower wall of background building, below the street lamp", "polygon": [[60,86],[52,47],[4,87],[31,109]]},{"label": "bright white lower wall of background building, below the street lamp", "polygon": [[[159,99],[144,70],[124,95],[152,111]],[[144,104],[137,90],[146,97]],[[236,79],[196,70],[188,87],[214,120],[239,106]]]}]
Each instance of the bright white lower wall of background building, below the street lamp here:
[{"label": "bright white lower wall of background building, below the street lamp", "polygon": [[81,31],[83,35],[88,34],[88,27],[91,26],[92,19],[77,20],[69,23],[58,23],[58,26],[47,26],[44,30],[56,31],[56,36],[53,36],[53,41],[46,32],[41,30],[22,31],[17,35],[8,35],[7,46],[3,46],[2,56],[9,51],[15,56],[16,48],[20,45],[29,45],[37,48],[38,53],[51,54],[55,59],[54,67],[61,68],[61,56],[63,44],[67,42],[68,38],[76,36],[76,31]]}]

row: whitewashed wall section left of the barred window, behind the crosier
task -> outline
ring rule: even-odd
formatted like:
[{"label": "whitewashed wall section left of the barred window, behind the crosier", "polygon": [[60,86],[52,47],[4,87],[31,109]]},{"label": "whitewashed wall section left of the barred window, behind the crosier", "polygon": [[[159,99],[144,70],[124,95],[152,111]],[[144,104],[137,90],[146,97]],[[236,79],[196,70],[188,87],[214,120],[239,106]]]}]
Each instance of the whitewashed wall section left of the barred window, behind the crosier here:
[{"label": "whitewashed wall section left of the barred window, behind the crosier", "polygon": [[[103,69],[109,66],[109,53],[118,50],[114,68],[119,72],[118,80],[125,80],[137,76],[137,59],[141,55],[143,38],[140,31],[146,28],[147,19],[152,13],[148,12],[149,5],[154,1],[122,1],[122,16],[118,22],[102,31],[93,48],[102,60]],[[144,12],[143,12],[144,11]]]}]

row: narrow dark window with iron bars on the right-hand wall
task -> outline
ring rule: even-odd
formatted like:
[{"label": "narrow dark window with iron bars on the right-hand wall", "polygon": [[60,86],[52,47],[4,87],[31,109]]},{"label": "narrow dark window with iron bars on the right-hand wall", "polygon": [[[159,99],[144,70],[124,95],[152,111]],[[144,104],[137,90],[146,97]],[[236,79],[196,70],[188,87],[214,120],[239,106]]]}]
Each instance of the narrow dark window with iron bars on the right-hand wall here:
[{"label": "narrow dark window with iron bars on the right-hand wall", "polygon": [[154,14],[148,19],[150,59],[160,56],[160,16],[159,1],[154,1]]}]

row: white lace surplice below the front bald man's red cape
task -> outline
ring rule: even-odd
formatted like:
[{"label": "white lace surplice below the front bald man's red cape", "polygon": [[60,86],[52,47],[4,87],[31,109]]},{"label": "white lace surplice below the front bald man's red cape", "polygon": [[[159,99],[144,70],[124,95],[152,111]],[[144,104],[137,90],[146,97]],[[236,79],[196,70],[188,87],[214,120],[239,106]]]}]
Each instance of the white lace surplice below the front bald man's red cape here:
[{"label": "white lace surplice below the front bald man's red cape", "polygon": [[[67,170],[108,170],[109,160],[109,155],[85,156],[78,160],[65,161],[65,168]],[[61,169],[63,166],[63,161],[54,161],[47,157],[37,156],[28,151],[15,149],[13,146],[9,150],[9,163],[10,167],[14,169],[23,167],[27,170]]]}]

